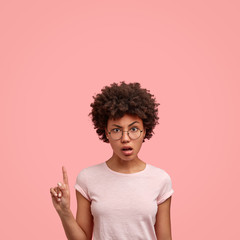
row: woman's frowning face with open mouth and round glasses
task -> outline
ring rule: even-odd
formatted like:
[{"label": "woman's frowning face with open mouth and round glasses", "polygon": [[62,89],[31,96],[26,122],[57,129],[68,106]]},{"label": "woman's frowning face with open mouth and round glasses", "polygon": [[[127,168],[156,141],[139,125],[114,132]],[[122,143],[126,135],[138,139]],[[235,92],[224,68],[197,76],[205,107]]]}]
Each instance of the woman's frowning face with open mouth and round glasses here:
[{"label": "woman's frowning face with open mouth and round glasses", "polygon": [[[131,139],[126,131],[134,135],[135,132],[142,130],[141,135],[137,139]],[[109,132],[112,132],[112,136],[115,133],[123,132],[122,137],[119,140],[114,140]],[[121,160],[134,160],[137,158],[138,152],[141,149],[143,139],[145,137],[145,129],[142,119],[135,115],[125,114],[122,118],[117,120],[109,119],[107,123],[106,136],[113,149],[114,157]],[[120,135],[121,136],[121,135]]]}]

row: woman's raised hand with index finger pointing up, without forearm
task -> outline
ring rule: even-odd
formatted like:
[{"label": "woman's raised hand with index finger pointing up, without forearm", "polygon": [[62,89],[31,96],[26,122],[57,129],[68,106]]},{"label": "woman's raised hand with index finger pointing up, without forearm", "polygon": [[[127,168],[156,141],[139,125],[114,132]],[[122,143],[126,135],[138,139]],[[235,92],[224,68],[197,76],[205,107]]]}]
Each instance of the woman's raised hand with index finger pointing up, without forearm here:
[{"label": "woman's raised hand with index finger pointing up, without forearm", "polygon": [[58,182],[57,187],[50,188],[52,202],[58,214],[69,213],[71,211],[68,176],[64,166],[62,166],[62,173],[63,182]]}]

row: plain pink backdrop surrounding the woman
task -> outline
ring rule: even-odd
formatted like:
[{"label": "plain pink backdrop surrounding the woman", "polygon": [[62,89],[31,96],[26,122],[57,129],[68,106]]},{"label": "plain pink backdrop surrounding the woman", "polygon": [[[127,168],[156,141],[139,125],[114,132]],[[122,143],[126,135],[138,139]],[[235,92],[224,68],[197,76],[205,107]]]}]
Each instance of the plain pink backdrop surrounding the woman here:
[{"label": "plain pink backdrop surrounding the woman", "polygon": [[107,160],[88,113],[105,85],[160,102],[140,157],[173,181],[173,239],[238,239],[239,1],[1,1],[1,239],[66,239],[49,189]]}]

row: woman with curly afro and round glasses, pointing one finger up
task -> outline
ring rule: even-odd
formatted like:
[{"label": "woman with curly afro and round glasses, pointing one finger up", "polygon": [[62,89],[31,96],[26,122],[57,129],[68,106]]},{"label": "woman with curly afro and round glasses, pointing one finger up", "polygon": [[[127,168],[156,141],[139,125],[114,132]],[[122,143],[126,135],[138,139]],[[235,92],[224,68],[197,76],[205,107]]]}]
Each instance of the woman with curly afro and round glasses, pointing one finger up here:
[{"label": "woman with curly afro and round glasses, pointing one finger up", "polygon": [[50,189],[69,240],[90,240],[92,235],[94,240],[172,239],[171,178],[138,157],[158,124],[158,105],[139,83],[113,83],[94,97],[89,115],[113,154],[78,174],[76,219],[64,167],[63,183]]}]

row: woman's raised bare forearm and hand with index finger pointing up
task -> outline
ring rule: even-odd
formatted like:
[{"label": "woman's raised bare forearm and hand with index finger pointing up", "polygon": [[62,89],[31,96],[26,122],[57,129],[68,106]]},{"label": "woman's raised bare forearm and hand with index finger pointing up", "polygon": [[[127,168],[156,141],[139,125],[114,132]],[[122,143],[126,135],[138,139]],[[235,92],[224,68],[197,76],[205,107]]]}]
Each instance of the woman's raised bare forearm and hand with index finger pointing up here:
[{"label": "woman's raised bare forearm and hand with index finger pointing up", "polygon": [[89,240],[80,224],[75,220],[70,210],[70,191],[67,172],[62,167],[63,183],[59,182],[55,188],[50,188],[53,205],[62,221],[68,240]]}]

